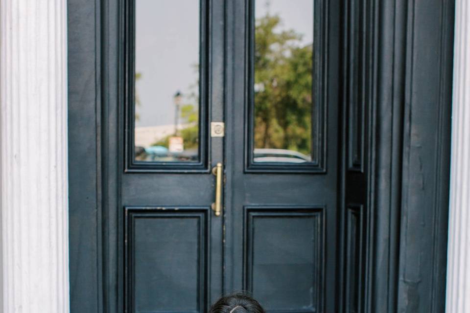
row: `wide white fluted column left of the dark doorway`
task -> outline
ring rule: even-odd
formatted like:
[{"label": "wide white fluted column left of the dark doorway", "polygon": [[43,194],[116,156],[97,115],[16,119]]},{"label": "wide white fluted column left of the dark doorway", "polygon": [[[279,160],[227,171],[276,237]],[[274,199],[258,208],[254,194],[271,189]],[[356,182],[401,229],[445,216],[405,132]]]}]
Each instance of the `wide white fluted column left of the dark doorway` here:
[{"label": "wide white fluted column left of the dark doorway", "polygon": [[4,313],[69,312],[66,0],[0,0]]}]

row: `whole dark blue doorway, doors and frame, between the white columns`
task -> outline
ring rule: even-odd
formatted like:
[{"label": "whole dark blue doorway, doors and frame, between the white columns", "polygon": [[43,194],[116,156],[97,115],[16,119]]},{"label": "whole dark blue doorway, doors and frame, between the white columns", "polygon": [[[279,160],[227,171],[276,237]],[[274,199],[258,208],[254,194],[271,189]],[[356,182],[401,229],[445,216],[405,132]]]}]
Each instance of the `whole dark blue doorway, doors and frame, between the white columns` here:
[{"label": "whole dark blue doorway, doors and frame, between the white columns", "polygon": [[68,0],[71,312],[441,312],[453,12]]}]

